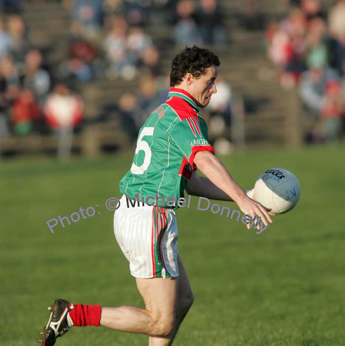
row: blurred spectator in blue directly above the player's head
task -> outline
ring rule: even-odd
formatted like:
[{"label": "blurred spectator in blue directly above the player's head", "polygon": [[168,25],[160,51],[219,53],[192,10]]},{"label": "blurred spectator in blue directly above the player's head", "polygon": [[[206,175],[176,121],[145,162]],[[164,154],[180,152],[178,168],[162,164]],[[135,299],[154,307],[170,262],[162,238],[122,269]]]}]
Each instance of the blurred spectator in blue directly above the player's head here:
[{"label": "blurred spectator in blue directly above the player's head", "polygon": [[175,44],[202,45],[203,38],[193,17],[194,2],[192,0],[180,0],[176,6],[176,23],[173,29]]}]

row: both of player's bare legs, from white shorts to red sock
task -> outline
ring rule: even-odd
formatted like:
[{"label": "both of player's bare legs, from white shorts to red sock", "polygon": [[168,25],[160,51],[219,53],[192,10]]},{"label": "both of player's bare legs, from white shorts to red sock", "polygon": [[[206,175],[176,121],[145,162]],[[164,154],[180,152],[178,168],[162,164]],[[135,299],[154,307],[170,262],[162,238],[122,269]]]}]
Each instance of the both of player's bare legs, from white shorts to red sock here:
[{"label": "both of player's bare legs, from white shorts to red sock", "polygon": [[149,346],[172,345],[178,328],[187,315],[193,293],[182,260],[177,257],[178,278],[137,278],[145,309],[131,306],[103,308],[101,325],[150,335]]}]

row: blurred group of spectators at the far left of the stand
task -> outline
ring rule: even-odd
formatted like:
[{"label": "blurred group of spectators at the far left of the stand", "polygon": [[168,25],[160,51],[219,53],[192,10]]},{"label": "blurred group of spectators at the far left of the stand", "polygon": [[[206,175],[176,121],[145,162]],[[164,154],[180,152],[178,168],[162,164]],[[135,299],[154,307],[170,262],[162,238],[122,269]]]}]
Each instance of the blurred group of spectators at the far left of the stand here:
[{"label": "blurred group of spectators at the far left of the stand", "polygon": [[67,79],[52,75],[30,42],[21,5],[0,2],[0,137],[76,128],[83,115],[81,97]]}]

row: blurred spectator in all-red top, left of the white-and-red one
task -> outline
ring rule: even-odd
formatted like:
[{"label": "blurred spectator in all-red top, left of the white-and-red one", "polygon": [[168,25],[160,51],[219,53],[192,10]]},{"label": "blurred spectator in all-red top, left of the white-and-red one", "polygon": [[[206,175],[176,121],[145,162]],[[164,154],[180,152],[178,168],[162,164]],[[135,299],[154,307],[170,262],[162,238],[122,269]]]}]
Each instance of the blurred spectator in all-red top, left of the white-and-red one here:
[{"label": "blurred spectator in all-red top, left of the white-and-red one", "polygon": [[39,105],[35,101],[33,91],[24,89],[12,106],[13,131],[17,135],[30,133],[42,120],[42,113]]}]

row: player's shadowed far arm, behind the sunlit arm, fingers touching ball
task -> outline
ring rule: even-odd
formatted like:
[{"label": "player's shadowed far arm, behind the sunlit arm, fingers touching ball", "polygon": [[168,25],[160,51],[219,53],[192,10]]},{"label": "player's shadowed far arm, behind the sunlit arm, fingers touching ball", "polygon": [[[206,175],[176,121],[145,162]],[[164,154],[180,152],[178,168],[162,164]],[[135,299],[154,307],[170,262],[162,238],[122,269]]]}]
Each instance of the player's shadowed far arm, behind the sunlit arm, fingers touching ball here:
[{"label": "player's shadowed far arm, behind the sunlit arm, fingers touching ball", "polygon": [[[187,183],[186,191],[188,194],[193,196],[234,202],[234,200],[223,190],[216,187],[208,178],[200,176],[197,171],[193,171],[192,176]],[[244,192],[246,192],[250,198],[254,195],[254,189],[244,190]]]}]

